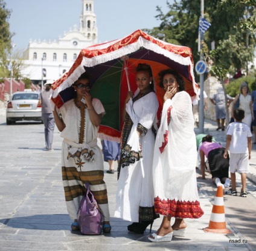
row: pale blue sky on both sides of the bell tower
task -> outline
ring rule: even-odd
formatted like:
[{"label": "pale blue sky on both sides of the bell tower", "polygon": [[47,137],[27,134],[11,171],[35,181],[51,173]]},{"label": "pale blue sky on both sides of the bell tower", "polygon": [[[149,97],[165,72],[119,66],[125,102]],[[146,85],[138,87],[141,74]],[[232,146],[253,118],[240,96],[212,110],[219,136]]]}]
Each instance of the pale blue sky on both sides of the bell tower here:
[{"label": "pale blue sky on both sides of the bell tower", "polygon": [[[79,24],[82,0],[5,0],[12,10],[10,30],[16,49],[26,49],[32,40],[63,37]],[[167,0],[95,0],[98,43],[119,39],[136,29],[159,26],[156,5],[167,13]],[[169,0],[169,2],[172,2]]]}]

